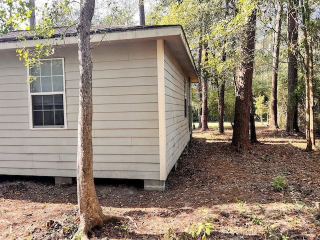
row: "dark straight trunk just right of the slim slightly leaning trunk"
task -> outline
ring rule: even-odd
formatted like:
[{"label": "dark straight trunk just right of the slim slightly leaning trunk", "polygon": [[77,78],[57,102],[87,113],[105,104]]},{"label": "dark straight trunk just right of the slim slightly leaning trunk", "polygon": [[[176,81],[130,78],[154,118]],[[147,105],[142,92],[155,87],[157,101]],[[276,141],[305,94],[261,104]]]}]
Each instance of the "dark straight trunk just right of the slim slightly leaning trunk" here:
[{"label": "dark straight trunk just right of the slim slightly leaning trunk", "polygon": [[295,92],[298,81],[297,59],[295,49],[298,39],[297,29],[297,0],[288,1],[288,94],[287,94],[287,115],[286,131],[299,131],[298,128],[298,96]]}]

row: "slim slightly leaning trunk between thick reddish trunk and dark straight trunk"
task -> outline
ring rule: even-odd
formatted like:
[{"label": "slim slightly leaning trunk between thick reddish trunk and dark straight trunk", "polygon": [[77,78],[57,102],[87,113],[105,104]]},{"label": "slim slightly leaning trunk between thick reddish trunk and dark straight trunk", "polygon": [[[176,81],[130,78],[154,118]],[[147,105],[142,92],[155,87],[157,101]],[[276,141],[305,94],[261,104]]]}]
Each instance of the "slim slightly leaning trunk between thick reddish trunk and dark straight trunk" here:
[{"label": "slim slightly leaning trunk between thick reddish trunk and dark straight trunk", "polygon": [[272,128],[279,128],[277,123],[277,78],[278,78],[278,66],[279,66],[279,48],[280,40],[279,35],[281,31],[281,12],[282,3],[277,2],[276,12],[276,25],[274,32],[273,52],[272,52],[272,85],[271,85],[271,116],[270,125]]}]

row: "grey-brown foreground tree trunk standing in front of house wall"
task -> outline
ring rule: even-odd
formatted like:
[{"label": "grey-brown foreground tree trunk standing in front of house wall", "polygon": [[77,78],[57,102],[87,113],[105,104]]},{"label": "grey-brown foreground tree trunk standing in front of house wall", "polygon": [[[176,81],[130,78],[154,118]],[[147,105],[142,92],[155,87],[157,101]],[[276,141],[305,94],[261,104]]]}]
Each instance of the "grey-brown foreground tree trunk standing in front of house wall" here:
[{"label": "grey-brown foreground tree trunk standing in front of house wall", "polygon": [[[94,0],[83,0],[80,11],[78,34],[79,60],[79,112],[78,143],[76,160],[77,200],[80,225],[73,239],[88,239],[87,232],[93,227],[102,227],[113,216],[102,213],[93,182],[92,170],[92,60],[90,51],[90,25]],[[116,217],[114,217],[116,218]],[[121,217],[121,219],[125,219]]]}]

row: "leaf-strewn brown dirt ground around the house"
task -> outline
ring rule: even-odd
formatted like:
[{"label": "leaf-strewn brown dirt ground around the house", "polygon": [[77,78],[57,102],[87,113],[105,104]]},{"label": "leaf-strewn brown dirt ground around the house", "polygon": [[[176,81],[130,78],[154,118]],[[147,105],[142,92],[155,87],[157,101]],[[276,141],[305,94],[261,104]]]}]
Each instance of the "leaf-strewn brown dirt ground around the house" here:
[{"label": "leaf-strewn brown dirt ground around the house", "polygon": [[[163,192],[99,181],[103,210],[134,223],[105,224],[91,239],[192,239],[185,228],[196,233],[206,222],[213,225],[207,239],[320,239],[320,153],[304,151],[302,134],[266,127],[257,128],[261,144],[235,152],[231,134],[194,130]],[[78,224],[75,185],[0,177],[1,240],[70,239]],[[274,190],[276,183],[283,189]]]}]

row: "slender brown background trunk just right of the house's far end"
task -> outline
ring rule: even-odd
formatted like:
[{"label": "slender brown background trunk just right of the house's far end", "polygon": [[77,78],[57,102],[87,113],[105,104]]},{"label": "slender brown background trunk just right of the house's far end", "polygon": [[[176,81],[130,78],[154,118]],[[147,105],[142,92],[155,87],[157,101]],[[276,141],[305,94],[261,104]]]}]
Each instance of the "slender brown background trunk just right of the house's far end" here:
[{"label": "slender brown background trunk just right of the house's far end", "polygon": [[[205,66],[207,61],[207,45],[203,46],[203,53],[204,59],[202,67]],[[202,70],[202,80],[201,80],[201,86],[202,86],[202,118],[201,118],[201,131],[208,130],[208,79],[205,73],[203,73]]]}]

